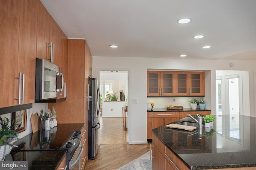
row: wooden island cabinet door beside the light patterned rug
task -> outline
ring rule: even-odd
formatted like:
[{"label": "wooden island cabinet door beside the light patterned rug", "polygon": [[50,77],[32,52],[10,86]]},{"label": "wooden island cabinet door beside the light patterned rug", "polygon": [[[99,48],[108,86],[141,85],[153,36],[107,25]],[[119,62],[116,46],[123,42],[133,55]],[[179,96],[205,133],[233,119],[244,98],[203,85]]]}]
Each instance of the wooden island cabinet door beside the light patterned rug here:
[{"label": "wooden island cabinet door beside the light patterned rug", "polygon": [[152,170],[165,170],[165,158],[153,144]]}]

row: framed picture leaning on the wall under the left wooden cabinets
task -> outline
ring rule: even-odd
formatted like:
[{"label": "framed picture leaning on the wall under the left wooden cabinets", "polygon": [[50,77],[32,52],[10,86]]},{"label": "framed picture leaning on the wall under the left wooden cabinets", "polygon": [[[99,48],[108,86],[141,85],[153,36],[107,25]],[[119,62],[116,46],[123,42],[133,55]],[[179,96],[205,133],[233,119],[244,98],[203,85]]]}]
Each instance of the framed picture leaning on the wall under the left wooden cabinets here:
[{"label": "framed picture leaning on the wall under the left wooden cabinets", "polygon": [[[27,129],[27,109],[13,112],[12,122],[18,122],[20,124],[20,128],[18,129],[17,133],[25,131]],[[18,125],[14,128],[17,129]]]}]

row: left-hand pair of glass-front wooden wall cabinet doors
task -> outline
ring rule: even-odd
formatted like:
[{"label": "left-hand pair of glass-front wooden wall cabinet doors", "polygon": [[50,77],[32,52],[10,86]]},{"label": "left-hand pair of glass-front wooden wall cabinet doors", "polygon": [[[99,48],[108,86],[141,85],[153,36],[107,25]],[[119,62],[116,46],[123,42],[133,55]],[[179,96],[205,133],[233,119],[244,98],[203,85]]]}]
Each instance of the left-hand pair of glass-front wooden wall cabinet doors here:
[{"label": "left-hand pair of glass-front wooden wall cabinet doors", "polygon": [[147,95],[148,96],[174,96],[175,72],[148,71]]}]

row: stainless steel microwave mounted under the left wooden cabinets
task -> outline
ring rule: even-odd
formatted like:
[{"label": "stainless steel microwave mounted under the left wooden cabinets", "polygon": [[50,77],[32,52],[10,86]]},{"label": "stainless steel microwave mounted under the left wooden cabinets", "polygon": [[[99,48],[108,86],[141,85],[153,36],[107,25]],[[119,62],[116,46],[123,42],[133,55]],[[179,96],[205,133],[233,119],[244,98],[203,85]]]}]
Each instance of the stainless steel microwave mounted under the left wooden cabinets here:
[{"label": "stainless steel microwave mounted under the left wooden cabinets", "polygon": [[63,85],[62,68],[44,59],[36,58],[35,100],[60,97]]}]

